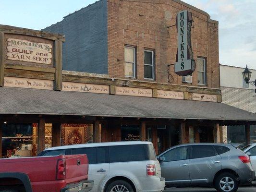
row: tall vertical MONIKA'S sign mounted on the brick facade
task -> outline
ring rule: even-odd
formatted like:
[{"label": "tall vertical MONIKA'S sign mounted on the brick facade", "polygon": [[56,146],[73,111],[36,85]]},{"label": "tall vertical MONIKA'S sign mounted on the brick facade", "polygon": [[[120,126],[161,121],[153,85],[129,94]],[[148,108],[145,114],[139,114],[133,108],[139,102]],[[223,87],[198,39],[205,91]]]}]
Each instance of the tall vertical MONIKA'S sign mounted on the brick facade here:
[{"label": "tall vertical MONIKA'S sign mounted on the brick facade", "polygon": [[190,35],[192,13],[188,11],[178,12],[176,24],[178,29],[178,51],[174,72],[180,76],[186,76],[195,71]]}]

